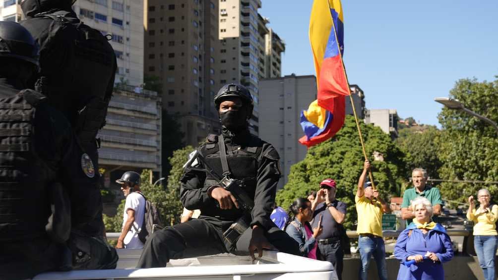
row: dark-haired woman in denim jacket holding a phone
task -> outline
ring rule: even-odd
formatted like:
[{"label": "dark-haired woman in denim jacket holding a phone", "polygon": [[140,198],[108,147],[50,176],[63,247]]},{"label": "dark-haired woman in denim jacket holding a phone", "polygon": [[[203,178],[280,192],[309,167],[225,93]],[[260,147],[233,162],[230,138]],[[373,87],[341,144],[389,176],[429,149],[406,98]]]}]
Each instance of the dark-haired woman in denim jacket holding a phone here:
[{"label": "dark-haired woman in denim jacket holding a phone", "polygon": [[322,233],[321,220],[318,221],[316,228],[311,229],[309,223],[313,218],[311,202],[303,197],[292,202],[290,212],[294,215],[294,220],[287,225],[285,232],[299,244],[299,251],[303,257],[316,260],[316,237]]}]

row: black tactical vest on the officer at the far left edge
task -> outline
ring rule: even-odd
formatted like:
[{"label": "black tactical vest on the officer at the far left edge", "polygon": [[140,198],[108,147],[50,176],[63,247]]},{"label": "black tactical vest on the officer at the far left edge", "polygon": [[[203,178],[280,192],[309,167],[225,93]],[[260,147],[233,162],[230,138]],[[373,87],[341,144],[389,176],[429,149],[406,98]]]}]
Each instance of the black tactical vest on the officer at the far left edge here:
[{"label": "black tactical vest on the officer at the far left edge", "polygon": [[43,101],[32,91],[0,99],[0,241],[45,234],[55,172],[34,150],[35,106]]}]

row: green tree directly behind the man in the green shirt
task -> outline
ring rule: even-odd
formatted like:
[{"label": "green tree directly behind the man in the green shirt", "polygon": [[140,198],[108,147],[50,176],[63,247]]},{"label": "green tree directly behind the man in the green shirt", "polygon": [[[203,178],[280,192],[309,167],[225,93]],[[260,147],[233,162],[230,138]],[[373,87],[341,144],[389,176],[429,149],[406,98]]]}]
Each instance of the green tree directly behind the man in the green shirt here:
[{"label": "green tree directly behind the man in the green shirt", "polygon": [[438,152],[440,146],[439,131],[435,126],[412,126],[399,130],[396,143],[406,153],[406,168],[411,176],[411,170],[414,168],[424,168],[431,178],[439,178],[438,170],[442,162],[439,159]]}]

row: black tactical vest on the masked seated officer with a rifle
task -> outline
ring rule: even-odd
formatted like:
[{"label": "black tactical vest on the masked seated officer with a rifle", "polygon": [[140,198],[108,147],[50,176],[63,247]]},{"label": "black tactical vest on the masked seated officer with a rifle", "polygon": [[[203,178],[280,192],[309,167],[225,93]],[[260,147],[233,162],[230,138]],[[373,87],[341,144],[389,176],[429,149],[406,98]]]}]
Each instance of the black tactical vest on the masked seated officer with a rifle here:
[{"label": "black tactical vest on the masked seated officer with a rifle", "polygon": [[[216,136],[210,135],[208,143],[200,147],[200,152],[206,159],[206,163],[213,168],[216,174],[223,177],[223,168],[220,158],[220,144]],[[227,151],[227,160],[230,168],[230,178],[240,180],[242,189],[248,196],[254,199],[257,183],[257,170],[259,167],[263,141],[253,135],[249,136],[247,147],[238,149],[237,154],[231,154]],[[227,150],[231,150],[228,148]],[[218,185],[216,179],[207,175],[204,186]],[[242,216],[243,211],[240,209],[222,210],[219,207],[210,207],[201,209],[201,213],[207,216],[218,216],[221,218],[235,219]]]}]

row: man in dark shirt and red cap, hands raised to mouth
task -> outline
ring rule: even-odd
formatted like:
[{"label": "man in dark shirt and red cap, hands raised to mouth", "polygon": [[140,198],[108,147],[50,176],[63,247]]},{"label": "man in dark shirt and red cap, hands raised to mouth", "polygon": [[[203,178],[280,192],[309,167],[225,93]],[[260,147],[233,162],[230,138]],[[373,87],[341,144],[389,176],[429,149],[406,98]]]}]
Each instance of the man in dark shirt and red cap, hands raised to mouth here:
[{"label": "man in dark shirt and red cap, hands raised to mouth", "polygon": [[342,223],[346,218],[346,203],[336,199],[336,182],[325,179],[320,183],[315,201],[312,204],[313,224],[322,220],[323,232],[317,237],[318,259],[334,265],[339,280],[342,279],[344,251],[341,241],[346,234]]}]

